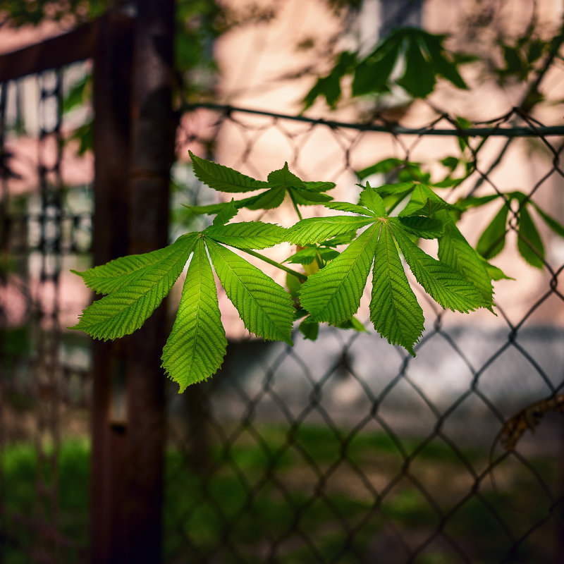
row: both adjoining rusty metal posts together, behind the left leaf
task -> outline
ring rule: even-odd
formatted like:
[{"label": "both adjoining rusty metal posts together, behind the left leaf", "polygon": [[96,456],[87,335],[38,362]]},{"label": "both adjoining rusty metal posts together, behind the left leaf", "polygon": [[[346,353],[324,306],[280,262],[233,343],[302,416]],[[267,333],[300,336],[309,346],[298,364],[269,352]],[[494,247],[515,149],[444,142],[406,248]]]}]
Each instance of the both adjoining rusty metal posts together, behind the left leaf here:
[{"label": "both adjoining rusty metal posts together, behind the left leaf", "polygon": [[[173,0],[132,4],[133,27],[124,33],[109,16],[96,57],[95,264],[168,238]],[[161,561],[165,313],[159,307],[133,335],[95,345],[92,563]]]}]

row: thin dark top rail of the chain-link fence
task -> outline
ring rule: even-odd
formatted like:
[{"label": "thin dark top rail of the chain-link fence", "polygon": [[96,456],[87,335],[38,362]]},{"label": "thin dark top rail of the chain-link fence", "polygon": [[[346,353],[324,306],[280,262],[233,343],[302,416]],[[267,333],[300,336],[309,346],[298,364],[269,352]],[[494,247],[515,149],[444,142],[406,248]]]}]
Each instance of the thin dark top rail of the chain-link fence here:
[{"label": "thin dark top rail of the chain-link fence", "polygon": [[[197,103],[197,104],[184,104],[183,110],[195,109],[212,109],[222,111],[224,114],[233,114],[240,112],[243,114],[253,114],[255,116],[268,116],[271,118],[287,119],[291,121],[301,121],[305,123],[326,125],[329,128],[346,128],[355,129],[360,131],[375,131],[378,133],[392,133],[393,135],[435,135],[435,136],[454,136],[454,137],[547,137],[564,135],[564,125],[541,125],[531,123],[527,126],[520,127],[501,127],[500,125],[493,125],[491,127],[473,127],[473,128],[460,128],[453,124],[452,128],[434,128],[434,121],[429,125],[422,128],[406,128],[395,122],[386,122],[383,125],[376,125],[374,123],[350,123],[345,121],[327,120],[324,118],[308,118],[302,115],[280,114],[275,111],[256,110],[250,108],[240,108],[238,106],[231,106],[229,104],[214,104],[211,102]],[[517,109],[514,109],[510,114],[518,115]],[[447,118],[448,116],[443,116]],[[508,116],[502,116],[498,120],[492,120],[491,123],[504,121]],[[441,119],[441,118],[439,118]]]}]

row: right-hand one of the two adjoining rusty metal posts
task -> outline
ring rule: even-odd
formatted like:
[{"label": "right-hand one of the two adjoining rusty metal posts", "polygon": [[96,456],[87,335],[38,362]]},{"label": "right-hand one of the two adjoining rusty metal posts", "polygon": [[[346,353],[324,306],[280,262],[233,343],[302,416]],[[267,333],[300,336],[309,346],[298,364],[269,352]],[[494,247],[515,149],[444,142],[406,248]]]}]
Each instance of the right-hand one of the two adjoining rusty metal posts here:
[{"label": "right-hand one of the two adjoining rusty metal posts", "polygon": [[[130,252],[168,242],[169,174],[176,122],[171,107],[174,1],[137,0],[133,57]],[[161,561],[164,382],[161,305],[128,339],[128,554],[130,563]]]}]

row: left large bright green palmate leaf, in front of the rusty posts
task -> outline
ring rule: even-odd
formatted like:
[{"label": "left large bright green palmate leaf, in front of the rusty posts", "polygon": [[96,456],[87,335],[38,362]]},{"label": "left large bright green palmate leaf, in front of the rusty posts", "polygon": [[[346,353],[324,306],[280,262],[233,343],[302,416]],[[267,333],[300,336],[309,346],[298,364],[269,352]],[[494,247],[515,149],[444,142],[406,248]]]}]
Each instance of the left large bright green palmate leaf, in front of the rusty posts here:
[{"label": "left large bright green palmate leaf, in front of the rusty posts", "polygon": [[[259,231],[264,232],[262,237]],[[163,350],[162,367],[178,382],[180,391],[212,376],[221,366],[227,341],[207,247],[219,280],[247,329],[259,337],[291,345],[290,295],[256,266],[218,243],[223,239],[242,249],[262,248],[279,243],[285,233],[281,227],[264,223],[216,225],[203,233],[183,235],[164,249],[76,273],[90,287],[108,295],[87,307],[72,329],[104,340],[133,333],[171,289],[193,250],[178,314]]]}]

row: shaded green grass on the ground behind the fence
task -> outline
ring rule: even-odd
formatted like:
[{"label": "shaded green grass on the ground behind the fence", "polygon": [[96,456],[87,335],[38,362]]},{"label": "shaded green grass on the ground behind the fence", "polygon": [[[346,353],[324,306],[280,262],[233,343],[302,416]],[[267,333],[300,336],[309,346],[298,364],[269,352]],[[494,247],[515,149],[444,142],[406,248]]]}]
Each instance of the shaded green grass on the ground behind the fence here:
[{"label": "shaded green grass on the ground behind the fence", "polygon": [[[363,432],[345,440],[344,431],[314,426],[290,435],[288,429],[274,425],[258,431],[259,442],[244,431],[230,446],[212,445],[204,470],[190,467],[177,450],[168,450],[165,561],[262,563],[274,551],[276,558],[269,561],[281,564],[402,562],[403,546],[417,548],[436,531],[439,510],[452,513],[443,527],[446,536],[439,534],[415,562],[460,561],[453,539],[472,562],[489,564],[508,553],[513,546],[510,535],[518,539],[548,508],[548,498],[512,458],[496,472],[500,494],[485,479],[477,495],[466,499],[473,479],[441,441],[422,449],[416,440],[402,441],[401,450],[417,453],[405,467],[396,443],[381,433]],[[487,464],[485,452],[462,454],[478,471]],[[41,502],[37,475],[49,484],[49,465],[38,469],[30,444],[5,448],[2,459],[6,515],[35,515]],[[548,483],[556,482],[555,460],[533,462]],[[78,548],[63,551],[61,563],[80,561],[87,547],[89,474],[87,441],[64,441],[59,453],[61,532]],[[421,488],[438,507],[429,503]],[[5,520],[4,525],[8,539],[3,561],[29,562],[35,535],[17,520]],[[539,528],[509,561],[551,561],[556,534],[553,523]]]}]

